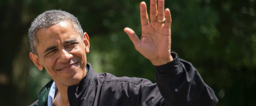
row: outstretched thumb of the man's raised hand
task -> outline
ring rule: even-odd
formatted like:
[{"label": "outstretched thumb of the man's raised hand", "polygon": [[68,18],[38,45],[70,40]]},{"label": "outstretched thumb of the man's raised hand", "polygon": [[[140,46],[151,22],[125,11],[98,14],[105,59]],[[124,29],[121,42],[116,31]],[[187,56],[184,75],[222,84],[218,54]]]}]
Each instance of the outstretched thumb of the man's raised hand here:
[{"label": "outstretched thumb of the man's raised hand", "polygon": [[138,38],[138,36],[135,34],[135,32],[131,28],[124,28],[124,31],[129,36],[129,38],[133,42],[135,49],[137,50],[137,48],[141,44],[141,40]]}]

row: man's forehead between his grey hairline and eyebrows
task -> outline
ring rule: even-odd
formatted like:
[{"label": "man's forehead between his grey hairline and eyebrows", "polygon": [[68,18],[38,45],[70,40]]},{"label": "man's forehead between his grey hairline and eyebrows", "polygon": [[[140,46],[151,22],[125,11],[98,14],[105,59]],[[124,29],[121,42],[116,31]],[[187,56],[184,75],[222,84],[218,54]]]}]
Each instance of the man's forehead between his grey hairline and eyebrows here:
[{"label": "man's forehead between his grey hairline and eyebrows", "polygon": [[48,28],[41,28],[36,32],[36,36],[38,40],[37,51],[49,46],[58,46],[65,40],[81,39],[80,34],[69,21],[62,21]]}]

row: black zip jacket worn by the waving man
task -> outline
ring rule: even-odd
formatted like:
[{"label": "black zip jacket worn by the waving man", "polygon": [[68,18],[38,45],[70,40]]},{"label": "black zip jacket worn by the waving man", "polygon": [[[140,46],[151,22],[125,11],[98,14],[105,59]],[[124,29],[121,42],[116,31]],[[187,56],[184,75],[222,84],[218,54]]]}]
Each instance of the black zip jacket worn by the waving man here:
[{"label": "black zip jacket worn by the waving man", "polygon": [[[216,106],[214,91],[202,80],[191,63],[179,59],[154,66],[156,82],[143,78],[115,77],[96,73],[88,63],[88,74],[79,85],[68,87],[70,106]],[[49,85],[52,84],[49,83]],[[48,87],[51,87],[49,86]],[[41,92],[41,91],[44,92]],[[49,91],[42,89],[39,96]],[[47,96],[33,105],[47,105]]]}]

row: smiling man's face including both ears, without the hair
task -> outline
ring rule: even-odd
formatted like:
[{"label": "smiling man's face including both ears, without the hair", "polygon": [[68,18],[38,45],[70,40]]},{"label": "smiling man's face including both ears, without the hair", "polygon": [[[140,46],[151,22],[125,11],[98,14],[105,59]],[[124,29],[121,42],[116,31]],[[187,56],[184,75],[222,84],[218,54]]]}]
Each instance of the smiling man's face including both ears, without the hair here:
[{"label": "smiling man's face including both ears, without the hair", "polygon": [[46,69],[56,84],[78,85],[86,75],[86,53],[89,52],[89,37],[81,38],[69,21],[62,21],[36,32],[37,52],[30,58],[42,70]]}]

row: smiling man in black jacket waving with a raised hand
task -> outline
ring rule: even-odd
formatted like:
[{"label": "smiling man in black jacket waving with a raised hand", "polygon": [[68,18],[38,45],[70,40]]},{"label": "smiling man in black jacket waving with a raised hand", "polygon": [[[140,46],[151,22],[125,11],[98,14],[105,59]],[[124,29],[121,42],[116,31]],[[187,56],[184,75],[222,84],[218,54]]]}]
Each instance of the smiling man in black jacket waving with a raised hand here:
[{"label": "smiling man in black jacket waving with a raised hand", "polygon": [[[171,53],[171,14],[164,0],[150,1],[150,20],[141,2],[141,40],[125,28],[135,49],[156,69],[156,82],[142,78],[115,77],[96,73],[86,63],[89,36],[79,21],[61,10],[39,15],[29,29],[30,59],[39,70],[46,69],[53,80],[38,94],[32,105],[108,106],[108,105],[216,105],[218,99],[197,70]],[[165,21],[165,23],[164,23]]]}]

